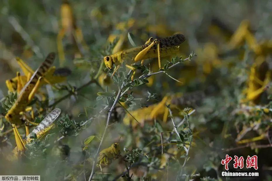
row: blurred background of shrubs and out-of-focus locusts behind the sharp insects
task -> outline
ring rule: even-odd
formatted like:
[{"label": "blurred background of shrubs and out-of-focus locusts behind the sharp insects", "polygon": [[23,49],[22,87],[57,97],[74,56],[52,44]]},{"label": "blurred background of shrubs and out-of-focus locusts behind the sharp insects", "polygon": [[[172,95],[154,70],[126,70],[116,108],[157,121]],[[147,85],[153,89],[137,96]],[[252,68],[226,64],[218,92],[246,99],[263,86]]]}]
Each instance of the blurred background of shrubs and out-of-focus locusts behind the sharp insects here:
[{"label": "blurred background of shrubs and out-of-focus locusts behind the sharp insects", "polygon": [[[195,110],[189,120],[192,144],[184,171],[187,176],[179,180],[226,180],[221,177],[221,160],[226,154],[245,160],[248,155],[258,156],[259,177],[236,180],[272,180],[271,10],[271,1],[254,0],[2,0],[0,174],[41,175],[45,180],[88,179],[107,112],[84,128],[77,129],[77,123],[89,120],[107,104],[97,92],[108,90],[116,95],[118,91],[100,59],[132,48],[129,39],[139,46],[149,37],[160,39],[181,33],[186,41],[177,54],[163,58],[162,64],[175,56],[185,59],[193,51],[197,56],[168,72],[182,83],[158,74],[149,77],[149,83],[130,90],[133,97],[125,106],[141,124],[134,124],[117,106],[111,120],[114,124],[101,148],[121,137],[121,154],[124,147],[140,148],[149,157],[140,158],[148,166],[136,164],[132,168],[133,180],[175,180],[184,150],[170,144],[175,135],[167,132],[173,124],[165,105],[171,104],[176,124],[183,120],[183,109],[188,107]],[[56,70],[51,75],[56,85],[40,88],[35,116],[40,119],[57,107],[64,116],[61,120],[75,122],[60,123],[47,140],[50,144],[36,148],[42,147],[42,153],[35,155],[37,150],[32,149],[31,159],[4,161],[16,146],[13,132],[8,132],[11,126],[4,118],[10,108],[7,100],[16,90],[8,88],[6,80],[16,77],[17,72],[25,75],[18,58],[35,71],[49,52],[56,52]],[[153,72],[159,70],[156,58],[145,61],[145,65]],[[100,69],[102,73],[97,74]],[[138,70],[135,77],[140,75]],[[94,77],[96,81],[92,82]],[[19,132],[25,136],[23,127]],[[165,132],[164,154],[160,132]],[[84,140],[91,135],[98,139],[87,151],[82,150]],[[54,142],[62,136],[67,137]],[[229,167],[235,170],[233,162]],[[121,180],[118,175],[124,171],[125,163],[118,159],[105,168],[104,172],[110,174],[103,179]],[[101,179],[100,175],[95,178]]]}]

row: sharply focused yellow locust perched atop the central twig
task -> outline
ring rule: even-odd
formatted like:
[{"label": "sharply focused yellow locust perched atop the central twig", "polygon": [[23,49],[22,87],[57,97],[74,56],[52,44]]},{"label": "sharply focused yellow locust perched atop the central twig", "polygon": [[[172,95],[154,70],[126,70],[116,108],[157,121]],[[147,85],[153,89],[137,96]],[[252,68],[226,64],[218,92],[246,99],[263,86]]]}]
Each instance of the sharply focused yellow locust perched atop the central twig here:
[{"label": "sharply focused yellow locust perched atop the central twig", "polygon": [[145,59],[157,57],[159,68],[161,69],[161,57],[176,53],[179,50],[179,45],[184,41],[185,37],[182,34],[174,34],[159,40],[150,37],[142,46],[105,56],[104,63],[109,69],[113,68],[113,64],[116,65],[112,74],[113,76],[120,68],[122,62],[125,61],[125,66],[133,71],[131,76],[131,80],[133,80],[136,73],[136,68],[132,66],[133,63],[141,61],[141,64],[143,65]]}]

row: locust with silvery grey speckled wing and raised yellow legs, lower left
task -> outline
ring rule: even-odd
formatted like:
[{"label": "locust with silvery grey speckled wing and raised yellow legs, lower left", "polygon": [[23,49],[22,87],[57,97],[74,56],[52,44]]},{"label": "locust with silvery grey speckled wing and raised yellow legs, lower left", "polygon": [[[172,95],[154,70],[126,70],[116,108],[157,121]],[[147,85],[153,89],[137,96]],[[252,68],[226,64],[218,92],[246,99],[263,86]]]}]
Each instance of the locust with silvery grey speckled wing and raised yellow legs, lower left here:
[{"label": "locust with silvery grey speckled wing and raised yellow legs, lower left", "polygon": [[35,133],[38,139],[44,136],[55,125],[54,123],[57,120],[57,118],[60,116],[60,114],[61,114],[61,110],[59,108],[55,108],[53,111],[51,111],[51,113],[49,113],[41,121],[41,123],[37,125],[37,127],[35,127],[35,129],[31,133],[29,133],[29,129],[28,129],[29,123],[26,122],[25,124],[26,138],[25,139],[23,139],[20,136],[16,125],[11,124],[13,132],[14,132],[14,136],[15,136],[16,145],[17,145],[16,148],[13,150],[13,153],[15,154],[15,156],[23,154],[23,152],[26,150],[25,145],[28,144],[32,140],[31,135]]}]

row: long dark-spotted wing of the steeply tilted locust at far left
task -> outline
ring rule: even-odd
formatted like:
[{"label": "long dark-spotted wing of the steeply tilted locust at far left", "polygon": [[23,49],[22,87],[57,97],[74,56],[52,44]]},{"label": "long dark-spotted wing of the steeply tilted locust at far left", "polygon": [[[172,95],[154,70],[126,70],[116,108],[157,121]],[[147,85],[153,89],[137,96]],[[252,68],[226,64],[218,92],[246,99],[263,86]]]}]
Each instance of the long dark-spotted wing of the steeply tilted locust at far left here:
[{"label": "long dark-spotted wing of the steeply tilted locust at far left", "polygon": [[49,53],[42,65],[40,65],[39,68],[33,73],[30,80],[20,91],[17,100],[5,116],[6,120],[8,120],[10,123],[14,123],[17,125],[21,123],[19,113],[23,111],[25,106],[27,106],[27,104],[29,103],[30,100],[28,100],[28,96],[30,92],[35,87],[39,77],[43,77],[49,67],[52,65],[55,56],[55,53]]}]

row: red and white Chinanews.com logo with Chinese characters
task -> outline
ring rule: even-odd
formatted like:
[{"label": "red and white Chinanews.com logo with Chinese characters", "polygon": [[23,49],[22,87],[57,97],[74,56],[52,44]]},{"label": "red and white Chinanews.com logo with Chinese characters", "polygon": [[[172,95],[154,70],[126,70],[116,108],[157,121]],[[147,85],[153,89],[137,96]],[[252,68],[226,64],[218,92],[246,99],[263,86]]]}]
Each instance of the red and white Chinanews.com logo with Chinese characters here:
[{"label": "red and white Chinanews.com logo with Chinese characters", "polygon": [[[233,161],[232,161],[233,160]],[[221,164],[225,166],[225,170],[226,171],[222,171],[221,172],[221,176],[222,177],[258,177],[259,176],[259,172],[253,172],[253,171],[229,171],[229,165],[231,165],[233,162],[233,168],[239,168],[242,169],[244,168],[244,157],[240,156],[234,156],[234,159],[229,156],[226,155],[225,159],[222,159]],[[231,162],[232,161],[232,162]],[[248,169],[252,169],[254,168],[255,170],[258,170],[258,157],[256,155],[254,156],[247,156],[246,159],[246,165],[245,167]]]}]

